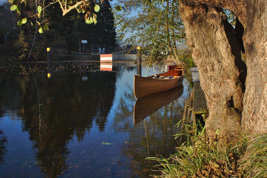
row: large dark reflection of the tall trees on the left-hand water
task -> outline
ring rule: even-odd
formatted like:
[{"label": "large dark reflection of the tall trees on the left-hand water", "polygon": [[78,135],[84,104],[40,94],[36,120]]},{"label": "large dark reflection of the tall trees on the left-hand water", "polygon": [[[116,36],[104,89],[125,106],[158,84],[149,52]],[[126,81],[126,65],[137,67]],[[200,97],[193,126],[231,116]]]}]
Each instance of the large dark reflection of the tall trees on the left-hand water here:
[{"label": "large dark reflection of the tall trees on the left-hand water", "polygon": [[[74,135],[82,140],[94,124],[99,131],[105,130],[115,93],[116,73],[86,72],[88,81],[82,81],[79,66],[64,64],[64,68],[59,69],[59,65],[49,66],[50,79],[44,69],[46,65],[32,67],[42,104],[40,119],[32,77],[14,73],[0,81],[3,107],[18,111],[23,131],[29,132],[30,140],[38,149],[41,172],[48,177],[56,177],[68,168],[67,144]],[[77,72],[69,73],[70,69]]]}]

